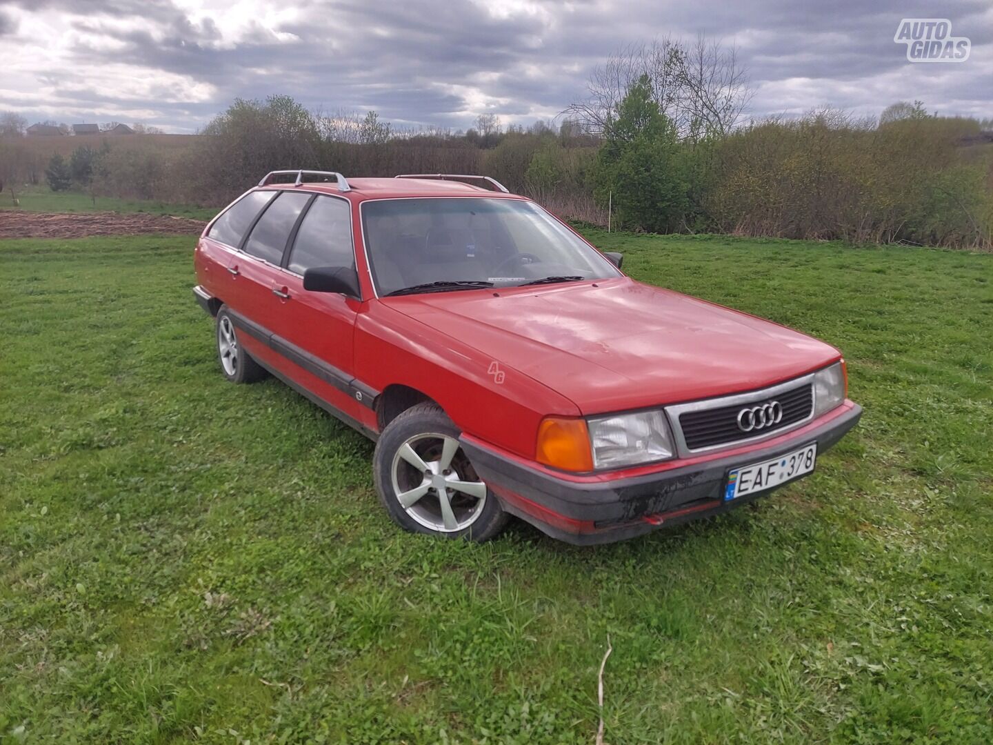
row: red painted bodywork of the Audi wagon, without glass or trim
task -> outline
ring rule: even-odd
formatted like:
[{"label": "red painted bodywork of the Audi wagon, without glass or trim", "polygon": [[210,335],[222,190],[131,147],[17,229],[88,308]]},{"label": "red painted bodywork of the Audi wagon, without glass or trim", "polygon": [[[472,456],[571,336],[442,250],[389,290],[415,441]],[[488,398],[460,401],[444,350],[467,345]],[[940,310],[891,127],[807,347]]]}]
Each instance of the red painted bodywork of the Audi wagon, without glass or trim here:
[{"label": "red painted bodywork of the Audi wagon, without glass or trim", "polygon": [[[261,189],[296,189],[349,201],[360,299],[308,292],[299,275],[214,241],[208,236],[210,225],[198,242],[195,266],[201,288],[213,300],[360,381],[355,389],[343,389],[255,338],[242,341],[253,358],[337,409],[369,436],[383,426],[382,402],[403,386],[440,404],[465,441],[521,468],[582,486],[767,452],[780,440],[794,442],[858,408],[846,400],[780,438],[619,471],[569,474],[542,466],[534,458],[544,417],[621,412],[753,391],[824,368],[841,355],[779,324],[627,276],[376,297],[362,242],[362,203],[411,197],[523,198],[451,181],[354,179],[350,184],[352,191],[346,193],[334,184]],[[495,373],[495,365],[501,374]],[[574,534],[598,529],[593,520],[557,515],[504,485],[491,486],[514,514],[532,522]],[[682,507],[669,517],[707,507]],[[669,517],[652,514],[636,520],[654,525]]]}]

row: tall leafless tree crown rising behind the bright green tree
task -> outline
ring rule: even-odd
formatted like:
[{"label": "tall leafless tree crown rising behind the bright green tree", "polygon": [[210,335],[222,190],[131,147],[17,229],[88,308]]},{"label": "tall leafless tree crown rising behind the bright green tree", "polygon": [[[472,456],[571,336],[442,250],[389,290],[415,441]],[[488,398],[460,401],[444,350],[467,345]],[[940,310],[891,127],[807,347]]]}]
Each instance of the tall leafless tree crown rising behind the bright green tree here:
[{"label": "tall leafless tree crown rising behind the bright green tree", "polygon": [[741,120],[754,91],[733,47],[699,36],[692,43],[664,37],[630,45],[594,69],[585,100],[564,113],[599,134],[638,78],[646,74],[652,99],[681,137],[726,133]]}]

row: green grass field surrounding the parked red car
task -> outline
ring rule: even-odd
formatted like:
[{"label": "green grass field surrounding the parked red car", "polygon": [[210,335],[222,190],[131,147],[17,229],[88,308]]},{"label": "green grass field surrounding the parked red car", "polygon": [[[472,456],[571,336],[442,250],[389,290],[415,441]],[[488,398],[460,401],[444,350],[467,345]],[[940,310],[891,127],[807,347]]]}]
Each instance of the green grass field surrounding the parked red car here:
[{"label": "green grass field surrounding the parked red car", "polygon": [[230,385],[189,237],[0,241],[0,740],[993,739],[993,256],[595,234],[842,348],[860,427],[709,522],[387,521],[371,446]]}]

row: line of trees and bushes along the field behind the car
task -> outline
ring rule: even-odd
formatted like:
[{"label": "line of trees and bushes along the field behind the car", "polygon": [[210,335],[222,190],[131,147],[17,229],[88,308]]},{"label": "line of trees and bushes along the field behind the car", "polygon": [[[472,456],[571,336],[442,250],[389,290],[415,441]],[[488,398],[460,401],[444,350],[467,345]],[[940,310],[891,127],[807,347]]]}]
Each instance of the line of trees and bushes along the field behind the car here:
[{"label": "line of trees and bushes along the field behind the car", "polygon": [[[746,120],[751,96],[733,50],[664,39],[609,59],[558,122],[502,127],[484,114],[464,132],[398,128],[273,95],[234,101],[182,149],[87,145],[47,163],[45,178],[222,205],[277,169],[477,173],[563,217],[633,230],[993,246],[993,122],[920,101],[872,118],[825,107]],[[0,138],[8,183],[11,142]]]}]

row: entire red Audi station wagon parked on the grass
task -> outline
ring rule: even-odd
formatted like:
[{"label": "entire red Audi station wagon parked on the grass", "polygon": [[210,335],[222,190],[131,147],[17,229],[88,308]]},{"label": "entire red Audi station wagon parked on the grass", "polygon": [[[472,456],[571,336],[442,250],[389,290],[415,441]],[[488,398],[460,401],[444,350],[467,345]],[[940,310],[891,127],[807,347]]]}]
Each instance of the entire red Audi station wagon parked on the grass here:
[{"label": "entire red Audi station wagon parked on the grass", "polygon": [[862,411],[838,350],[631,279],[487,177],[276,171],[195,264],[223,374],[373,439],[408,530],[631,537],[811,473]]}]

